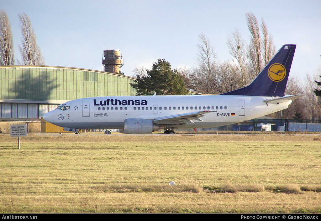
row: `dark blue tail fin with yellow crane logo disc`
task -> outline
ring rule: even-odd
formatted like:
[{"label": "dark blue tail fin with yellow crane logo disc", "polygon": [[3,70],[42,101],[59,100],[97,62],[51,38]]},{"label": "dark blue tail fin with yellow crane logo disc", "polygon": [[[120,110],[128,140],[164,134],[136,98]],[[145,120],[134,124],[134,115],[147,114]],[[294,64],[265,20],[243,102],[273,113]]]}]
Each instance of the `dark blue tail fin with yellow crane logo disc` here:
[{"label": "dark blue tail fin with yellow crane logo disc", "polygon": [[283,45],[250,85],[221,95],[284,96],[295,47]]}]

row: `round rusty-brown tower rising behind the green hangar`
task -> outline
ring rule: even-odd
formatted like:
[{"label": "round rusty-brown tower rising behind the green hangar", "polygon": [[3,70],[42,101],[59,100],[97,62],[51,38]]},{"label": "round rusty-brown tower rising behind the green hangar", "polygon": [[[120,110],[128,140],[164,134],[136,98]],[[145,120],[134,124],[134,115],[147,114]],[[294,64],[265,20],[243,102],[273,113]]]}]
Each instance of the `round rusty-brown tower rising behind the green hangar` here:
[{"label": "round rusty-brown tower rising behind the green hangar", "polygon": [[105,72],[119,74],[120,68],[124,65],[123,55],[120,54],[120,50],[104,50],[102,64]]}]

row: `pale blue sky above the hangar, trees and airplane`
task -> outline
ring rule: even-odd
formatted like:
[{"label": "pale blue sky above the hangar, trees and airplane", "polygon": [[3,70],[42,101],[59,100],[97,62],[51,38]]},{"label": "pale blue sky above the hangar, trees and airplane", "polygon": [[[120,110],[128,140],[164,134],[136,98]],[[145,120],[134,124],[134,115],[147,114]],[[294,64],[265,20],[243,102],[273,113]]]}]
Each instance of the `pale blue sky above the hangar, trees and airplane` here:
[{"label": "pale blue sky above the hangar, trees and airplane", "polygon": [[297,44],[291,73],[313,74],[321,65],[321,1],[15,1],[0,0],[10,20],[15,58],[25,12],[37,36],[45,64],[103,70],[105,49],[119,49],[121,71],[150,69],[158,58],[172,68],[196,67],[198,35],[203,33],[220,61],[231,59],[227,37],[237,28],[249,42],[245,14],[265,20],[276,51]]}]

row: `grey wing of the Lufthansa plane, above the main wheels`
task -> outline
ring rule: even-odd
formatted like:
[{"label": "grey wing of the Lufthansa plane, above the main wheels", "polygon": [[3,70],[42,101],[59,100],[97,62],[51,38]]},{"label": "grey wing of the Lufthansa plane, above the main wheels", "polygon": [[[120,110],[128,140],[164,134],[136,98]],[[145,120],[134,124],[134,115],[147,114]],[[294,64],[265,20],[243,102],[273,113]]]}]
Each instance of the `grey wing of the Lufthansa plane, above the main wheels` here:
[{"label": "grey wing of the Lufthansa plane, above the main wheels", "polygon": [[204,117],[204,114],[210,113],[213,111],[209,110],[204,110],[204,111],[195,111],[191,113],[185,113],[185,114],[176,114],[176,115],[171,115],[171,116],[166,116],[166,117],[160,117],[160,118],[155,118],[153,121],[156,124],[159,125],[177,125],[177,124],[186,124],[186,123],[193,123],[191,120],[199,120],[203,121],[200,119],[201,117]]}]

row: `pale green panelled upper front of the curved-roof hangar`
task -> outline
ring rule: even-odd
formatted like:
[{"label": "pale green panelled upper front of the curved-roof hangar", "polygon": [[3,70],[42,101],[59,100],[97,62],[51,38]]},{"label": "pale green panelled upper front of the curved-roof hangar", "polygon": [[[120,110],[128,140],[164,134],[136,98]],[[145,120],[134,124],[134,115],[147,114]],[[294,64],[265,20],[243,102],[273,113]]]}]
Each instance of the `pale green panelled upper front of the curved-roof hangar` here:
[{"label": "pale green panelled upper front of the curved-roof hangar", "polygon": [[0,66],[0,102],[60,104],[84,97],[135,95],[135,78],[54,66]]}]

